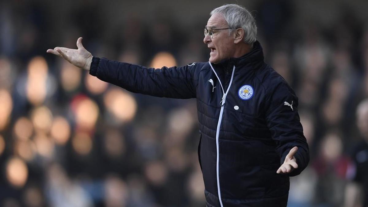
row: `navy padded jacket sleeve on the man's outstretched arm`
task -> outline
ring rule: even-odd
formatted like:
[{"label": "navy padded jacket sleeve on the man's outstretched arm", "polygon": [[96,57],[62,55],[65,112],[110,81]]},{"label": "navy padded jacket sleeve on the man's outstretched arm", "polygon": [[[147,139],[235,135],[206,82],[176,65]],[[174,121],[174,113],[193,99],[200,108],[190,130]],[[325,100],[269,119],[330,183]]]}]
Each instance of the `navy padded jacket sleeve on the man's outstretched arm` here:
[{"label": "navy padded jacket sleeve on the man's outstretched arm", "polygon": [[89,74],[128,91],[167,98],[195,98],[195,65],[146,68],[93,57]]}]

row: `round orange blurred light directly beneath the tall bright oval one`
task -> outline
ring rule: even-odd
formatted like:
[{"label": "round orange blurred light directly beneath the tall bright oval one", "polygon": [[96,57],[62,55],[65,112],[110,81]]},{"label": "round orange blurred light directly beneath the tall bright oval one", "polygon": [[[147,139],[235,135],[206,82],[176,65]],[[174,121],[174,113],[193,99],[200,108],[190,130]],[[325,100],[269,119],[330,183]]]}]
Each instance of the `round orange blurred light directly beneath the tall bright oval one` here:
[{"label": "round orange blurred light directly beneath the tall bright oval one", "polygon": [[52,124],[52,113],[46,106],[40,106],[32,111],[31,120],[35,130],[47,133]]}]

